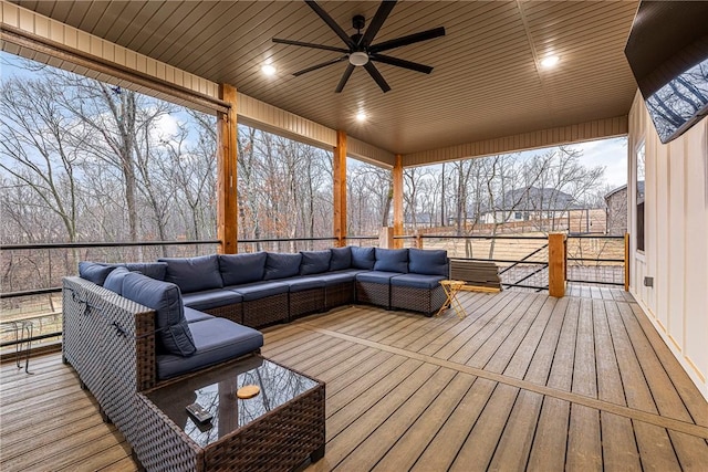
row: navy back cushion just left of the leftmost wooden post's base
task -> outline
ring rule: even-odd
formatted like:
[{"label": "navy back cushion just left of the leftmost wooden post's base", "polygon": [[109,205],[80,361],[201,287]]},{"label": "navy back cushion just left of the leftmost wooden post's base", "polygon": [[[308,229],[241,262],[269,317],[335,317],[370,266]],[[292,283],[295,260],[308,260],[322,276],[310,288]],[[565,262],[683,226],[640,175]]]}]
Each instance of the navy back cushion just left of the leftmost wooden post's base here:
[{"label": "navy back cushion just left of the leftmost wooden post's base", "polygon": [[167,262],[165,281],[176,284],[183,293],[223,286],[217,254],[198,258],[162,258],[158,261]]}]

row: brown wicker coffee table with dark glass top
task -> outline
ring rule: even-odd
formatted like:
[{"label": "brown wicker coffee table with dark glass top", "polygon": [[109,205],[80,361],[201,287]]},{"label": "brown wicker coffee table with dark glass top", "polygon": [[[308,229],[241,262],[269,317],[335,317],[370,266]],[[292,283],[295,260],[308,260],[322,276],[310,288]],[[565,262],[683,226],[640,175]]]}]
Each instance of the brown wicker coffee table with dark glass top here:
[{"label": "brown wicker coffee table with dark glass top", "polygon": [[[260,392],[237,398],[247,385]],[[187,413],[194,402],[211,421]],[[137,394],[136,408],[147,470],[289,471],[324,455],[324,384],[259,356]]]}]

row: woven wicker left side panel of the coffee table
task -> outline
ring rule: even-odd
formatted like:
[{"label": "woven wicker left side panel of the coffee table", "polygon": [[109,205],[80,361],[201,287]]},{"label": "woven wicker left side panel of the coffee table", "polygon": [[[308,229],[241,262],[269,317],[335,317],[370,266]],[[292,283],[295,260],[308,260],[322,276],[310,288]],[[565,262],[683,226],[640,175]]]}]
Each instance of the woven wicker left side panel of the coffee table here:
[{"label": "woven wicker left side panel of the coffee table", "polygon": [[148,471],[204,471],[204,451],[163,411],[137,395],[139,428],[133,451]]}]

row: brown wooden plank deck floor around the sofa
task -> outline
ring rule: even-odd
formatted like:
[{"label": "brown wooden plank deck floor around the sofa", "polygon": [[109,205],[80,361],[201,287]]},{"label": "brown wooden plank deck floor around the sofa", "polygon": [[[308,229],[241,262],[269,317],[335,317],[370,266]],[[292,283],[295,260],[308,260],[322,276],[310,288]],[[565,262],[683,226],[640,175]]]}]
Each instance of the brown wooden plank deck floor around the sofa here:
[{"label": "brown wooden plank deck floor around the sofa", "polygon": [[[326,381],[308,471],[708,470],[708,405],[632,297],[461,295],[468,317],[346,307],[266,332]],[[2,366],[0,469],[135,470],[60,355]]]}]

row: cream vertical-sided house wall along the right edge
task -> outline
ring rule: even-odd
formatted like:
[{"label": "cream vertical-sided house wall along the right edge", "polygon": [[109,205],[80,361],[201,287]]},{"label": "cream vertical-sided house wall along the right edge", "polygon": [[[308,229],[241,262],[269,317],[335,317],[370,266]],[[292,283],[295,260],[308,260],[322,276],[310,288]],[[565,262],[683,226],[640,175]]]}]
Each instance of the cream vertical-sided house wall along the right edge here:
[{"label": "cream vertical-sided house wall along the right edge", "polygon": [[[642,143],[645,250],[637,251],[635,153]],[[637,93],[628,149],[629,291],[708,399],[708,118],[663,145]],[[654,286],[644,277],[654,277]]]}]

